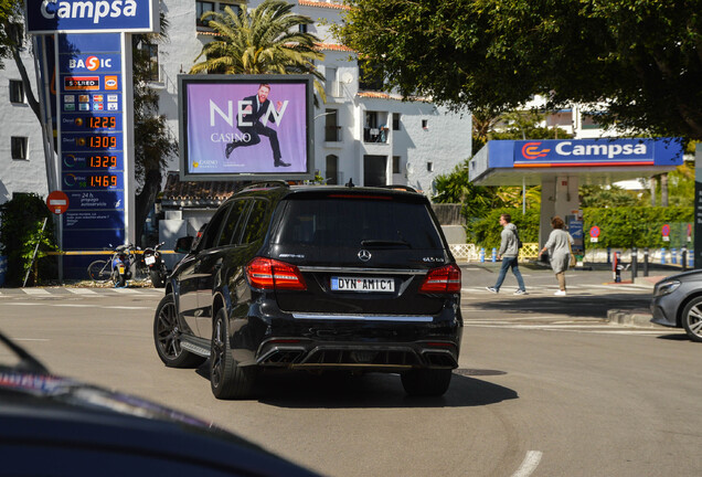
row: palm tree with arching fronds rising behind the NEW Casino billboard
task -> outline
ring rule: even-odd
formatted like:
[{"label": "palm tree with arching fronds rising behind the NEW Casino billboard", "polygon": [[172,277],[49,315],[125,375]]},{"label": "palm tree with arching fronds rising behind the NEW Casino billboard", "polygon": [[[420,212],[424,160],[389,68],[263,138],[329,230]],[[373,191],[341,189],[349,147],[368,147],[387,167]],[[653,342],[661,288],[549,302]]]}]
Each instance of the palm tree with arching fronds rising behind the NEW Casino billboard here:
[{"label": "palm tree with arching fronds rising behind the NEW Casino billboard", "polygon": [[313,61],[325,59],[315,49],[319,39],[300,32],[300,25],[312,23],[309,17],[291,13],[292,4],[283,0],[266,0],[251,12],[242,6],[241,13],[230,7],[224,13],[210,11],[202,20],[212,18],[209,26],[217,35],[202,47],[201,57],[190,70],[191,74],[311,74],[315,88],[326,98],[320,82],[325,76],[317,71]]}]

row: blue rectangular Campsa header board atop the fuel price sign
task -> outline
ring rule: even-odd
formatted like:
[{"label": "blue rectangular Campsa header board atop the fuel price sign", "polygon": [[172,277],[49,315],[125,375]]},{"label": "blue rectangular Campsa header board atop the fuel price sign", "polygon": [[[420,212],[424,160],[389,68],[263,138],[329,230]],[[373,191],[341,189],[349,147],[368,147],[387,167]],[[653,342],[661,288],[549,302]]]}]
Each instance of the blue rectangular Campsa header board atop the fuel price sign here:
[{"label": "blue rectangular Campsa header board atop the fuel price sign", "polygon": [[158,0],[28,1],[29,33],[158,31]]}]

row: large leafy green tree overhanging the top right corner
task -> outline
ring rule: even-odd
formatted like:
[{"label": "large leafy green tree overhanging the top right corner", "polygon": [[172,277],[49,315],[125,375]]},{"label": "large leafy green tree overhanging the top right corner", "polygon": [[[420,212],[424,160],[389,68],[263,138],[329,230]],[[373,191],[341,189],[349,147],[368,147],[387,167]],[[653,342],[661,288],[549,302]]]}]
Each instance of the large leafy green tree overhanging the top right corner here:
[{"label": "large leafy green tree overhanging the top right corner", "polygon": [[606,109],[603,126],[702,138],[702,0],[348,3],[337,34],[387,89],[471,110],[541,94]]}]

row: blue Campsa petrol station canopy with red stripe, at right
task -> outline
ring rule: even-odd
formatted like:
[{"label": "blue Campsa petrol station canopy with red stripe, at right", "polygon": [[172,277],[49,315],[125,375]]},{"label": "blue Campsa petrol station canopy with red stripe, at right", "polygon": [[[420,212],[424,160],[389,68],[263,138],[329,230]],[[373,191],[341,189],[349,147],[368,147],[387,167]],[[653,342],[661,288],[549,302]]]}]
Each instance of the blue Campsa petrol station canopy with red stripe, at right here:
[{"label": "blue Campsa petrol station canopy with red stripe, at right", "polygon": [[682,165],[678,138],[491,140],[470,161],[478,186],[540,186],[559,177],[609,184]]}]

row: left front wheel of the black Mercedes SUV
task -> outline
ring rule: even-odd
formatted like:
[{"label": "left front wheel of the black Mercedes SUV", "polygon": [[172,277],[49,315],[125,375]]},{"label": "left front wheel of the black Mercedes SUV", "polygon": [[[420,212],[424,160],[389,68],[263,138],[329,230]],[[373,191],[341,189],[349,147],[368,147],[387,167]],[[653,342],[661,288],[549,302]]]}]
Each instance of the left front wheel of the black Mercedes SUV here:
[{"label": "left front wheel of the black Mercedes SUV", "polygon": [[166,295],[156,308],[153,344],[159,358],[169,368],[195,368],[205,360],[180,347],[180,330],[172,294]]}]

